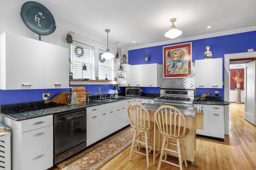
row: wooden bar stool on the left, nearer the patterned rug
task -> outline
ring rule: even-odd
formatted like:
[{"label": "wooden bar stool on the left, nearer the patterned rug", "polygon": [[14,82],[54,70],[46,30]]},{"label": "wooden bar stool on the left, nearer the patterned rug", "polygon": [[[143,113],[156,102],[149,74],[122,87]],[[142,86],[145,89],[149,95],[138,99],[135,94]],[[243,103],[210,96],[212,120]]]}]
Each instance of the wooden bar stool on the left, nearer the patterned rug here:
[{"label": "wooden bar stool on the left, nearer the patterned rug", "polygon": [[[133,102],[129,104],[127,107],[127,113],[130,118],[130,125],[135,129],[129,161],[132,158],[132,152],[145,155],[147,159],[147,167],[149,168],[148,153],[151,152],[153,146],[148,145],[148,140],[150,140],[150,137],[148,137],[147,132],[150,132],[150,130],[154,128],[154,122],[150,121],[148,110],[139,103]],[[138,149],[135,150],[134,148],[137,146]],[[141,146],[146,148],[146,154],[140,151]]]}]

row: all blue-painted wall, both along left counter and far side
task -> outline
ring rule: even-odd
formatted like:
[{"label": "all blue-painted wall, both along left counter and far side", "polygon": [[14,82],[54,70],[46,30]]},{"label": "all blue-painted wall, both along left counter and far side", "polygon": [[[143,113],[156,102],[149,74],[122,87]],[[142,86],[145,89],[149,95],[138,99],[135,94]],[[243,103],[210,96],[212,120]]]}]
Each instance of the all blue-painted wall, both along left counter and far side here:
[{"label": "all blue-painted wall, both along left counter and far side", "polygon": [[[233,35],[225,35],[220,37],[199,39],[192,42],[192,62],[198,59],[204,59],[204,52],[206,46],[210,46],[212,51],[212,58],[223,58],[223,79],[224,79],[224,55],[230,53],[243,53],[247,49],[256,49],[256,31],[247,33],[238,33]],[[181,44],[180,42],[175,44]],[[147,63],[163,64],[163,47],[166,44],[155,47],[148,47],[143,49],[136,49],[128,51],[129,64],[145,64],[144,55],[148,54],[149,61]],[[214,70],[213,70],[214,71]],[[102,88],[102,94],[114,94],[114,85],[84,85],[86,92],[91,91],[91,95],[98,92],[98,88]],[[196,95],[203,92],[211,92],[214,95],[214,90],[220,91],[220,96],[224,96],[224,88],[222,89],[200,89],[196,88]],[[70,92],[67,89],[39,89],[39,90],[0,90],[0,105],[18,104],[26,102],[38,102],[42,100],[42,93],[50,92],[51,98],[60,92]],[[160,88],[144,88],[144,93],[159,93]]]}]

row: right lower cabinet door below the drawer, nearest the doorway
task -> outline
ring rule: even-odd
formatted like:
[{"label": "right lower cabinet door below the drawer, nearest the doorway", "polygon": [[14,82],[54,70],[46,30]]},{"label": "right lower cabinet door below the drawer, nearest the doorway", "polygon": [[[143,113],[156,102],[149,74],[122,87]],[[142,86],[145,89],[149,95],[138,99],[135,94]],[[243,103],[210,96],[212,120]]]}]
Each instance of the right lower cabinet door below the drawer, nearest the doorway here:
[{"label": "right lower cabinet door below the drawer, nearest the doorway", "polygon": [[224,139],[224,112],[209,111],[209,135]]}]

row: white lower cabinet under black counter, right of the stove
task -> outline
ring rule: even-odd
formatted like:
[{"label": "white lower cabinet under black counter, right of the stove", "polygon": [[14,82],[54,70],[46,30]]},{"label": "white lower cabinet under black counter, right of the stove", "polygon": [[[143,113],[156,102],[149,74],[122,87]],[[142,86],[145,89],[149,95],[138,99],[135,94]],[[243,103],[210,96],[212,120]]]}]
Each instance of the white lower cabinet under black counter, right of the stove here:
[{"label": "white lower cabinet under black counter, right of the stove", "polygon": [[[194,107],[200,104],[194,104]],[[196,129],[196,134],[224,139],[224,106],[202,104],[204,129]]]}]

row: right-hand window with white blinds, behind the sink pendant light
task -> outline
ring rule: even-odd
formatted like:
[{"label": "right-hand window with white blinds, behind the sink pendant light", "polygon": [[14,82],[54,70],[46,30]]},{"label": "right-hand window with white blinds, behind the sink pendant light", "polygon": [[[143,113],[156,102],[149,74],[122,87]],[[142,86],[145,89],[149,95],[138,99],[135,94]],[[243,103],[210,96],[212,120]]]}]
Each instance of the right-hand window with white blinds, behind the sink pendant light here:
[{"label": "right-hand window with white blinds, behind the sink pendant light", "polygon": [[99,80],[111,80],[112,78],[112,59],[106,60],[101,57],[105,51],[99,49]]}]

